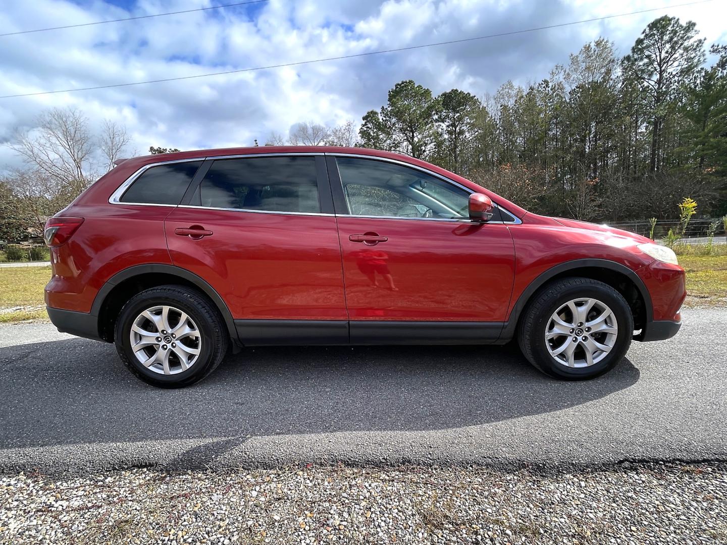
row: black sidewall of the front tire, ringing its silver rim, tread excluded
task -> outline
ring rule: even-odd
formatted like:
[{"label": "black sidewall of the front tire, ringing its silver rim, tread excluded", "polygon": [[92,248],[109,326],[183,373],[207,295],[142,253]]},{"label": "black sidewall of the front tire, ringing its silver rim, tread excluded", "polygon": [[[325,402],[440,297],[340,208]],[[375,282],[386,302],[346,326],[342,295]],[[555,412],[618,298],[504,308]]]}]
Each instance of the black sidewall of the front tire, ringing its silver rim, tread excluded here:
[{"label": "black sidewall of the front tire, ringing its silver rim, tread excluded", "polygon": [[[614,312],[616,316],[616,325],[618,333],[616,334],[616,342],[611,352],[608,352],[606,358],[595,363],[593,366],[570,368],[558,363],[550,355],[545,340],[545,331],[550,322],[553,312],[558,310],[563,304],[572,299],[590,298],[606,304],[608,308]],[[559,378],[571,380],[593,379],[596,376],[610,371],[619,361],[622,360],[628,350],[633,336],[633,318],[627,302],[621,294],[610,286],[595,286],[593,284],[587,286],[572,286],[561,291],[558,296],[553,299],[550,304],[542,307],[533,321],[533,338],[530,339],[532,353],[537,358],[537,363],[548,374],[558,376]]]}]

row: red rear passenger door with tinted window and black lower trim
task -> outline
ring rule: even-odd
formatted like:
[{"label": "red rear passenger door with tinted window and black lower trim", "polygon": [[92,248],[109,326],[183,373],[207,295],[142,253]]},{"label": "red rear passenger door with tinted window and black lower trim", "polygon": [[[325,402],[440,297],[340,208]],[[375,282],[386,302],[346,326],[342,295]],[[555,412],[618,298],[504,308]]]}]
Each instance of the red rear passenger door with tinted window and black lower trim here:
[{"label": "red rear passenger door with tinted window and black lower trim", "polygon": [[206,161],[166,218],[174,265],[205,278],[245,344],[348,342],[324,158]]}]

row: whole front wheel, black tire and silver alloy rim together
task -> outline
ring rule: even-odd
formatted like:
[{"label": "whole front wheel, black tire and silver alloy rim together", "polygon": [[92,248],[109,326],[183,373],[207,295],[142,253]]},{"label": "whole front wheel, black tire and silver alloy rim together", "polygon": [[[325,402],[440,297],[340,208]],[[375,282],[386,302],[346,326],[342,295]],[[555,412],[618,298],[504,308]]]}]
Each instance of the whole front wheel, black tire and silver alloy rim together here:
[{"label": "whole front wheel, black tire and silver alloy rim together", "polygon": [[590,278],[563,278],[540,291],[518,331],[523,354],[559,379],[593,379],[616,366],[633,336],[628,303],[614,288]]}]

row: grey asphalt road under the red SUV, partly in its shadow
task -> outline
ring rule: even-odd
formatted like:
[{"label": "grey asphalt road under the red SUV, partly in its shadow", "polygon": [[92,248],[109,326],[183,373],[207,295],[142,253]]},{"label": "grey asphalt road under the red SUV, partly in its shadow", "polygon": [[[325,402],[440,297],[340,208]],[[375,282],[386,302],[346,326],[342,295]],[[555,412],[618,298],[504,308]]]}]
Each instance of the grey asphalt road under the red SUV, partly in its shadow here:
[{"label": "grey asphalt road under the red SUV, partly in its shadow", "polygon": [[590,382],[548,379],[515,347],[286,347],[182,390],[137,381],[110,344],[3,326],[0,471],[724,461],[727,310],[684,316]]}]

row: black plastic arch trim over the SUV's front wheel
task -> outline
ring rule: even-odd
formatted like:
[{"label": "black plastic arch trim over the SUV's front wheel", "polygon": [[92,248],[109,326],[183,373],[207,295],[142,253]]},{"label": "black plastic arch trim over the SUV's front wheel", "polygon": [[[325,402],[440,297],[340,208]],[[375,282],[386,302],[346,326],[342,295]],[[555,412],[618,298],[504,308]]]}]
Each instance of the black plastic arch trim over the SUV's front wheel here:
[{"label": "black plastic arch trim over the SUV's front wheel", "polygon": [[648,293],[646,285],[643,280],[639,278],[639,275],[634,270],[630,269],[626,265],[621,263],[610,261],[609,259],[599,258],[585,258],[585,259],[574,259],[572,261],[566,261],[550,269],[540,273],[525,290],[518,297],[518,301],[515,302],[512,312],[510,312],[510,318],[505,323],[505,327],[502,328],[502,334],[500,335],[500,342],[509,341],[515,336],[515,328],[518,326],[518,320],[520,315],[525,309],[525,305],[530,300],[531,296],[535,294],[542,286],[563,273],[568,273],[570,270],[577,270],[583,268],[600,268],[612,270],[615,273],[621,273],[634,283],[639,291],[639,294],[643,298],[644,311],[646,312],[646,324],[648,325],[654,320],[654,307],[651,304],[651,294]]}]

